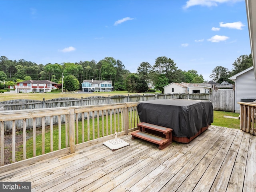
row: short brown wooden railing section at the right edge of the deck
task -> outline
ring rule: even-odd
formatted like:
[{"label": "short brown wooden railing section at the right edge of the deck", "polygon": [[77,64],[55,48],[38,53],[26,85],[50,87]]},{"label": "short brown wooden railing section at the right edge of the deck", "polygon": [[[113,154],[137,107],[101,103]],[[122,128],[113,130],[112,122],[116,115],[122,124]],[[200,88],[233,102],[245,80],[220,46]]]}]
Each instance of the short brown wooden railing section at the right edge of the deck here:
[{"label": "short brown wooden railing section at the right edge of the deck", "polygon": [[240,104],[240,129],[256,134],[256,103],[238,102]]}]

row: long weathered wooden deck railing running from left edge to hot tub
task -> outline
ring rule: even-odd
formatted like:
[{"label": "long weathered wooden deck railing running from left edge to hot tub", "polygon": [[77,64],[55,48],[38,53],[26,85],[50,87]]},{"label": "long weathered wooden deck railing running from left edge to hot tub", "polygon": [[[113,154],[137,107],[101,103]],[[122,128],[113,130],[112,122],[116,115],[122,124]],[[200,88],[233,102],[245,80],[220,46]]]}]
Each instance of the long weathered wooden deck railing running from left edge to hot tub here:
[{"label": "long weathered wooden deck railing running from left edge to hot tub", "polygon": [[[16,162],[16,121],[22,120],[23,134],[23,160],[27,159],[27,147],[33,148],[33,158],[31,163],[47,159],[60,154],[74,153],[82,148],[82,144],[92,144],[94,140],[99,142],[104,136],[114,136],[115,132],[128,134],[137,128],[139,122],[137,114],[138,102],[105,104],[97,106],[74,106],[62,108],[44,108],[30,110],[9,110],[0,111],[0,166],[4,166],[4,127],[5,122],[12,122],[12,163]],[[64,123],[63,123],[64,117]],[[45,124],[45,119],[50,118],[50,124]],[[58,125],[53,124],[53,118],[58,118]],[[32,146],[27,146],[26,142],[26,121],[32,119]],[[39,120],[39,121],[38,121]],[[38,122],[40,124],[38,125]],[[87,125],[85,124],[87,122]],[[58,127],[58,150],[54,151],[54,126]],[[50,132],[50,152],[46,154],[46,128]],[[36,154],[36,130],[42,129],[42,154]],[[65,129],[65,139],[61,139],[61,130]],[[81,129],[81,130],[80,130]],[[79,139],[82,137],[82,139]],[[49,141],[48,141],[49,142]],[[65,143],[62,148],[61,144]],[[29,163],[28,161],[26,161]],[[8,166],[8,165],[6,165]],[[18,165],[17,165],[18,166]]]}]

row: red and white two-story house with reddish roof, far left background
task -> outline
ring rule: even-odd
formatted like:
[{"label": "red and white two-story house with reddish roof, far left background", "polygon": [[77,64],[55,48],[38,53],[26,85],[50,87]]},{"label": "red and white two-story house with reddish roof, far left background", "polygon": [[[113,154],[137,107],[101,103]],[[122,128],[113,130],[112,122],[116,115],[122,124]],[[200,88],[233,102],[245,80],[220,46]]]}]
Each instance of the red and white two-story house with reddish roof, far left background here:
[{"label": "red and white two-story house with reddish roof, far left background", "polygon": [[57,88],[57,83],[49,81],[49,80],[27,80],[18,82],[15,86],[15,92],[23,92],[23,93],[30,93],[30,92],[51,92],[52,89]]}]

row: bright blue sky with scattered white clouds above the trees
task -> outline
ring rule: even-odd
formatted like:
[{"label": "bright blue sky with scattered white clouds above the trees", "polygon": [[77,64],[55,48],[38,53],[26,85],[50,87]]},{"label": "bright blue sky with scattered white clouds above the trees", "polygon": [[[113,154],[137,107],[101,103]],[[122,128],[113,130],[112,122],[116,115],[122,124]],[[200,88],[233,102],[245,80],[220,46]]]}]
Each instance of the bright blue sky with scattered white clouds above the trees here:
[{"label": "bright blue sky with scattered white clouds above the trees", "polygon": [[0,56],[36,64],[166,56],[210,80],[249,55],[244,0],[0,0]]}]

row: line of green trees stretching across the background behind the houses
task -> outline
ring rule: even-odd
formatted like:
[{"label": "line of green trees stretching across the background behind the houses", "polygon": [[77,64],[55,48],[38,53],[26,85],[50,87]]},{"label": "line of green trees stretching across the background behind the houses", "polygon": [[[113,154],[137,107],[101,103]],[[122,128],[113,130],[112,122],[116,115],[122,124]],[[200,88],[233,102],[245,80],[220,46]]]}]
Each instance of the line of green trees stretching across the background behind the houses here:
[{"label": "line of green trees stretching across the background behind the houses", "polygon": [[[232,72],[218,66],[214,68],[210,77],[217,82],[228,81],[228,76],[249,65],[252,66],[251,54],[240,56],[234,62]],[[81,90],[83,80],[91,79],[111,80],[114,90],[128,90],[129,92],[146,92],[148,84],[153,84],[155,89],[163,92],[164,86],[172,82],[204,82],[203,76],[199,75],[196,70],[180,70],[174,60],[166,56],[156,58],[153,65],[148,62],[140,63],[136,73],[126,70],[122,61],[113,57],[105,57],[99,62],[91,60],[46,65],[24,59],[16,61],[9,60],[5,56],[0,57],[0,88],[4,86],[3,81],[5,81],[5,86],[13,86],[25,80],[50,80],[61,84],[62,74],[64,75],[64,88],[68,90]]]}]

